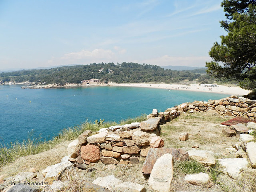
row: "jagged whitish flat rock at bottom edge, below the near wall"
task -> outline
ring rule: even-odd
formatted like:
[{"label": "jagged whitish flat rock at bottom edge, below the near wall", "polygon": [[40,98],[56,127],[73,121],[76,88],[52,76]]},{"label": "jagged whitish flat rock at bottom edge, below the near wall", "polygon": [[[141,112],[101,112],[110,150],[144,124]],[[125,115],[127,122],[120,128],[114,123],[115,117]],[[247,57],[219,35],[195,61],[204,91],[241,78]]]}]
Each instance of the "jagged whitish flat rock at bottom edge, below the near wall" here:
[{"label": "jagged whitish flat rock at bottom edge, below the near wall", "polygon": [[115,190],[116,185],[122,183],[123,181],[115,178],[114,175],[108,175],[106,177],[98,177],[92,183],[96,185],[100,185],[102,187],[108,188],[109,190]]}]

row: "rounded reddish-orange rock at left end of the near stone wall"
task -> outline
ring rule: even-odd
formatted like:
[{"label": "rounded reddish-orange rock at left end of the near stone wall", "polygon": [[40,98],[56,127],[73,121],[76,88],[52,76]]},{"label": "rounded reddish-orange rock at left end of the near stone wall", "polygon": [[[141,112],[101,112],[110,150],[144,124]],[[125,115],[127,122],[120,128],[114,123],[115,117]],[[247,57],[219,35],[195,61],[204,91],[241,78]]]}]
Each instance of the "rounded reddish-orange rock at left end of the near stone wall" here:
[{"label": "rounded reddish-orange rock at left end of the near stone wall", "polygon": [[100,148],[96,145],[81,146],[81,157],[85,161],[95,163],[100,160]]}]

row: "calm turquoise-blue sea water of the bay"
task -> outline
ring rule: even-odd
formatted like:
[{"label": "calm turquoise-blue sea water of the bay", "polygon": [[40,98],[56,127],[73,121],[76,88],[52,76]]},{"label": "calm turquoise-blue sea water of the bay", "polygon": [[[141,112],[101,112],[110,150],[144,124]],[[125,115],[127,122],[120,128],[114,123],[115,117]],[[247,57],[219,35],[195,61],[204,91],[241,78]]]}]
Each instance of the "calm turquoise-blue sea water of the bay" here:
[{"label": "calm turquoise-blue sea water of the bay", "polygon": [[51,139],[63,128],[86,119],[119,121],[149,114],[153,108],[164,111],[183,102],[227,96],[137,87],[21,89],[4,85],[0,86],[0,143],[26,140],[31,133],[33,137]]}]

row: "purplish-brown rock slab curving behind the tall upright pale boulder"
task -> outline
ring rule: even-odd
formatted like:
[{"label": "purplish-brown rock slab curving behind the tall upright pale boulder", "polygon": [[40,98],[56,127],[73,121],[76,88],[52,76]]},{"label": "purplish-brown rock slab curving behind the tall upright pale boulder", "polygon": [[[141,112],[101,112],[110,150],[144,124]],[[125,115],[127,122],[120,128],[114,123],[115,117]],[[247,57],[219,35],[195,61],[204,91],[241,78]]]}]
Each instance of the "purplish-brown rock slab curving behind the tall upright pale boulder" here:
[{"label": "purplish-brown rock slab curving behind the tall upright pale boulder", "polygon": [[177,161],[177,160],[185,161],[189,158],[188,153],[182,149],[167,148],[167,147],[150,148],[142,167],[142,173],[144,177],[149,177],[153,169],[153,166],[156,163],[156,160],[166,153],[170,153],[173,156],[174,161]]}]

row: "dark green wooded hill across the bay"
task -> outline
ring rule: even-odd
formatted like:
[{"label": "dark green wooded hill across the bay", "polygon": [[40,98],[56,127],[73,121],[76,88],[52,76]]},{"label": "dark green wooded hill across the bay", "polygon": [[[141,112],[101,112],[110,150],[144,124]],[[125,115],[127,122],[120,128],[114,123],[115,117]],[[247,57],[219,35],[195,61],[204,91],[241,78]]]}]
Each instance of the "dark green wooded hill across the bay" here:
[{"label": "dark green wooded hill across the bay", "polygon": [[[98,73],[100,68],[104,68],[102,73]],[[108,69],[114,71],[109,73]],[[0,80],[8,82],[36,82],[44,84],[81,83],[82,80],[100,79],[102,82],[116,83],[140,83],[140,82],[175,82],[180,80],[193,80],[200,76],[190,71],[172,71],[156,65],[122,63],[93,63],[90,65],[65,66],[51,69],[22,70],[8,73],[1,73]]]}]

